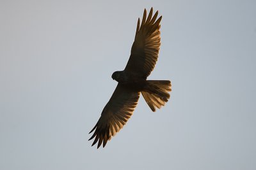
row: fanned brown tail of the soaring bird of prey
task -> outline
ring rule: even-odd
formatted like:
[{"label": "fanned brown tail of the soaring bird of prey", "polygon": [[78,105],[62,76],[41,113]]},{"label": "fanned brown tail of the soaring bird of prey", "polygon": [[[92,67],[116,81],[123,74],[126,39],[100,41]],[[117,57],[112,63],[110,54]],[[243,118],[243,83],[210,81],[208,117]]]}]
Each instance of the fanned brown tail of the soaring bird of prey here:
[{"label": "fanned brown tail of the soaring bird of prey", "polygon": [[156,111],[156,108],[160,109],[170,98],[168,92],[172,90],[171,87],[169,80],[147,80],[147,86],[141,94],[150,109]]}]

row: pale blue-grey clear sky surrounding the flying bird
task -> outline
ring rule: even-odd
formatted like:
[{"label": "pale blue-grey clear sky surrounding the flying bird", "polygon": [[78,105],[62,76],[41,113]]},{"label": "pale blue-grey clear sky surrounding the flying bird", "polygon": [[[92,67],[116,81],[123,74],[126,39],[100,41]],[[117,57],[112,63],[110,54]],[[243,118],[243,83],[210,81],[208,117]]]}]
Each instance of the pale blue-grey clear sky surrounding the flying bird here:
[{"label": "pale blue-grey clear sky surrounding the flying bird", "polygon": [[[159,10],[150,80],[105,148],[96,124],[138,17]],[[0,1],[0,169],[256,169],[256,1]]]}]

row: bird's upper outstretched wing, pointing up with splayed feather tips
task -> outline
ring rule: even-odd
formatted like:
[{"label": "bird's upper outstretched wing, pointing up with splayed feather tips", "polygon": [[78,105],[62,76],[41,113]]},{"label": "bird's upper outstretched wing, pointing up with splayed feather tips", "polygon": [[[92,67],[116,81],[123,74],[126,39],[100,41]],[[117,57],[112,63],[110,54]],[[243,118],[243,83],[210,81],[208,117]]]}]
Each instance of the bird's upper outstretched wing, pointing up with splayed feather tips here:
[{"label": "bird's upper outstretched wing, pointing up with splayed feather tips", "polygon": [[140,18],[138,19],[131,56],[125,67],[125,70],[132,71],[143,78],[147,78],[154,69],[161,45],[159,29],[162,16],[156,20],[158,11],[154,17],[152,17],[152,13],[153,8],[147,18],[147,11],[144,10],[141,25]]}]

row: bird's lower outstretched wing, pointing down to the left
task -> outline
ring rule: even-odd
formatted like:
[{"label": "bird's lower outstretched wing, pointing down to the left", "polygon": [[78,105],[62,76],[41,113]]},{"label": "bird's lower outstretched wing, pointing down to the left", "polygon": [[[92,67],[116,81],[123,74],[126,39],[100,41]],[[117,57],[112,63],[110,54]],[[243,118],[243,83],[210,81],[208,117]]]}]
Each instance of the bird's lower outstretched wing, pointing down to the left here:
[{"label": "bird's lower outstretched wing, pointing down to the left", "polygon": [[102,142],[104,147],[108,140],[111,139],[111,136],[114,136],[116,132],[122,129],[131,117],[139,97],[140,92],[134,92],[120,84],[117,85],[115,92],[104,107],[97,124],[90,131],[90,133],[95,131],[89,139],[95,138],[92,146],[99,141],[97,148],[100,147]]}]

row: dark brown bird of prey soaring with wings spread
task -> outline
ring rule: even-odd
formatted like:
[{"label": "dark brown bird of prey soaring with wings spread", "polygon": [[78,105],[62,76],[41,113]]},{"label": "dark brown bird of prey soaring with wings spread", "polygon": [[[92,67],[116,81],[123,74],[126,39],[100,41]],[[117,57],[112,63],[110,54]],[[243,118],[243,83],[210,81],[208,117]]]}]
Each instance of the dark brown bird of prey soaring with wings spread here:
[{"label": "dark brown bird of prey soaring with wings spread", "polygon": [[[115,92],[102,110],[101,116],[93,127],[92,146],[98,141],[97,148],[106,143],[122,129],[131,117],[140,97],[144,97],[152,111],[161,108],[170,98],[171,82],[169,80],[147,80],[154,69],[160,49],[160,22],[162,16],[157,19],[158,11],[152,17],[151,8],[148,17],[144,10],[140,24],[140,18],[136,28],[131,55],[124,71],[115,71],[113,80],[118,81]],[[157,20],[156,20],[157,19]],[[90,134],[89,133],[89,134]]]}]

